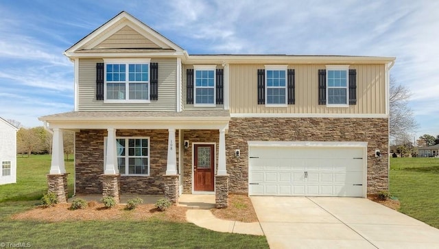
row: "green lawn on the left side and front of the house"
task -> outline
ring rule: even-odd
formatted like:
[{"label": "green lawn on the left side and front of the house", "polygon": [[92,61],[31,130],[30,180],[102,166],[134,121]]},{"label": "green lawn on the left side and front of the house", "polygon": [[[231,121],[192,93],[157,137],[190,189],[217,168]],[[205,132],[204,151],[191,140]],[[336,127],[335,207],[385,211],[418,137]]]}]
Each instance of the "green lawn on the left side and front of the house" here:
[{"label": "green lawn on the left side and front of the house", "polygon": [[[17,169],[17,183],[0,186],[0,243],[25,243],[32,248],[268,248],[263,236],[217,233],[189,223],[12,220],[12,214],[41,204],[50,156],[19,157]],[[66,169],[71,173],[73,163],[66,162]],[[69,193],[73,193],[72,176]]]}]

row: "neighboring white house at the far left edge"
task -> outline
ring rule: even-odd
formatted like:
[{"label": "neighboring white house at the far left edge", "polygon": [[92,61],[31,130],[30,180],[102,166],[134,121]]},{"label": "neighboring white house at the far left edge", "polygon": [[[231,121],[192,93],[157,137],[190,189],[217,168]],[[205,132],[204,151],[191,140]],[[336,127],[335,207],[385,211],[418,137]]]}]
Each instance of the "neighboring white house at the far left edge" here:
[{"label": "neighboring white house at the far left edge", "polygon": [[0,185],[16,182],[16,132],[18,130],[0,117]]}]

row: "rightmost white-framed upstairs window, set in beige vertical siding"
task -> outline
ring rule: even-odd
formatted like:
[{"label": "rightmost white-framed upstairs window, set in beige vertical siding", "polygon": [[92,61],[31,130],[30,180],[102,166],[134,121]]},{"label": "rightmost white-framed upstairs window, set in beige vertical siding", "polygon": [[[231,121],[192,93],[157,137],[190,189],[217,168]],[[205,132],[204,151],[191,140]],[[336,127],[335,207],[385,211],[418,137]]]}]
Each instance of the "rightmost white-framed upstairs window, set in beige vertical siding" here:
[{"label": "rightmost white-framed upstairs window, set in beige vertical siding", "polygon": [[349,66],[327,66],[327,106],[349,106]]}]

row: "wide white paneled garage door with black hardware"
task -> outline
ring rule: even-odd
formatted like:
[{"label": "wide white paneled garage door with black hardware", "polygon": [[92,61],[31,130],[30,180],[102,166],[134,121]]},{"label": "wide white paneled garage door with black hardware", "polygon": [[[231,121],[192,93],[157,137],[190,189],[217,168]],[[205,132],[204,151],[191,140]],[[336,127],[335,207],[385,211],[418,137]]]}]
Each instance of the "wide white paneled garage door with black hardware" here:
[{"label": "wide white paneled garage door with black hardware", "polygon": [[249,147],[250,195],[364,196],[364,147]]}]

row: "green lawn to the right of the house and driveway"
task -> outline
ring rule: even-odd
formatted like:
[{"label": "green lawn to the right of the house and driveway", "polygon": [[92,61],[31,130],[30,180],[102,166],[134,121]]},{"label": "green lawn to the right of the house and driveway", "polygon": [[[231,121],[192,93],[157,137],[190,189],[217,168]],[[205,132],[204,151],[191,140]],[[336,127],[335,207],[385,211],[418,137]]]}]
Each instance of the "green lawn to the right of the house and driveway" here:
[{"label": "green lawn to the right of the house and driveway", "polygon": [[390,193],[401,213],[439,228],[439,158],[390,158]]}]

